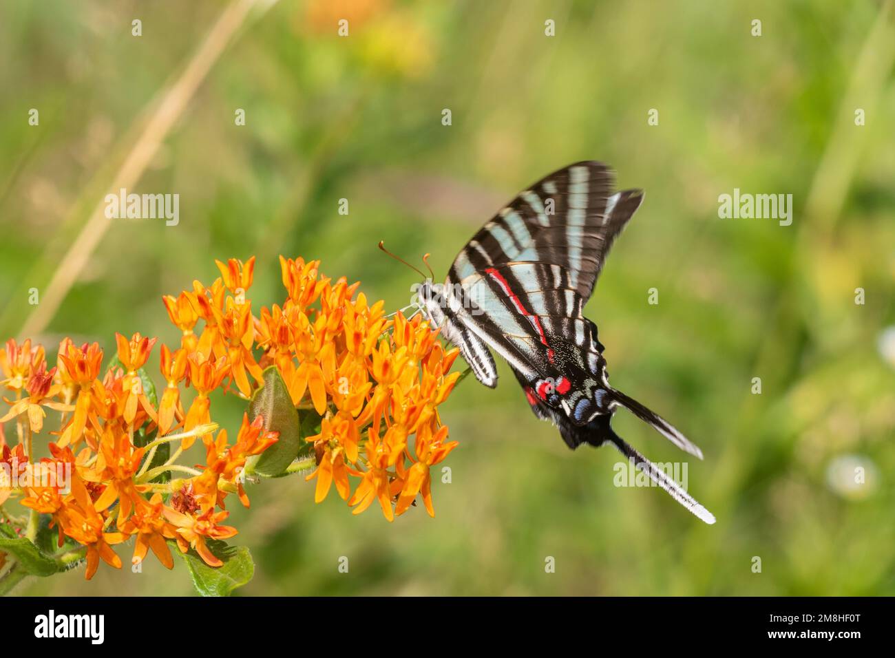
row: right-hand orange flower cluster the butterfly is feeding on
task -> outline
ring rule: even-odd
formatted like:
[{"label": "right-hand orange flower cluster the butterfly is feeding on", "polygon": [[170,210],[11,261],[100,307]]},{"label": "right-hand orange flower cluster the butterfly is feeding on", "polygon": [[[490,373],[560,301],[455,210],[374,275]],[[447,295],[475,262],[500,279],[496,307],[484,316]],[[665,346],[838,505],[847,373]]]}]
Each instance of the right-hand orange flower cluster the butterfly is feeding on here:
[{"label": "right-hand orange flower cluster the butterfly is feeding on", "polygon": [[[288,297],[262,308],[261,367],[276,365],[296,406],[320,415],[314,444],[315,500],[333,483],[359,514],[379,500],[389,521],[422,494],[431,516],[430,466],[447,457],[447,426],[437,407],[459,372],[458,350],[445,351],[426,322],[388,320],[382,302],[368,305],[358,284],[320,276],[320,261],[280,258]],[[351,477],[360,478],[354,494]],[[394,508],[393,508],[394,504]]]}]

